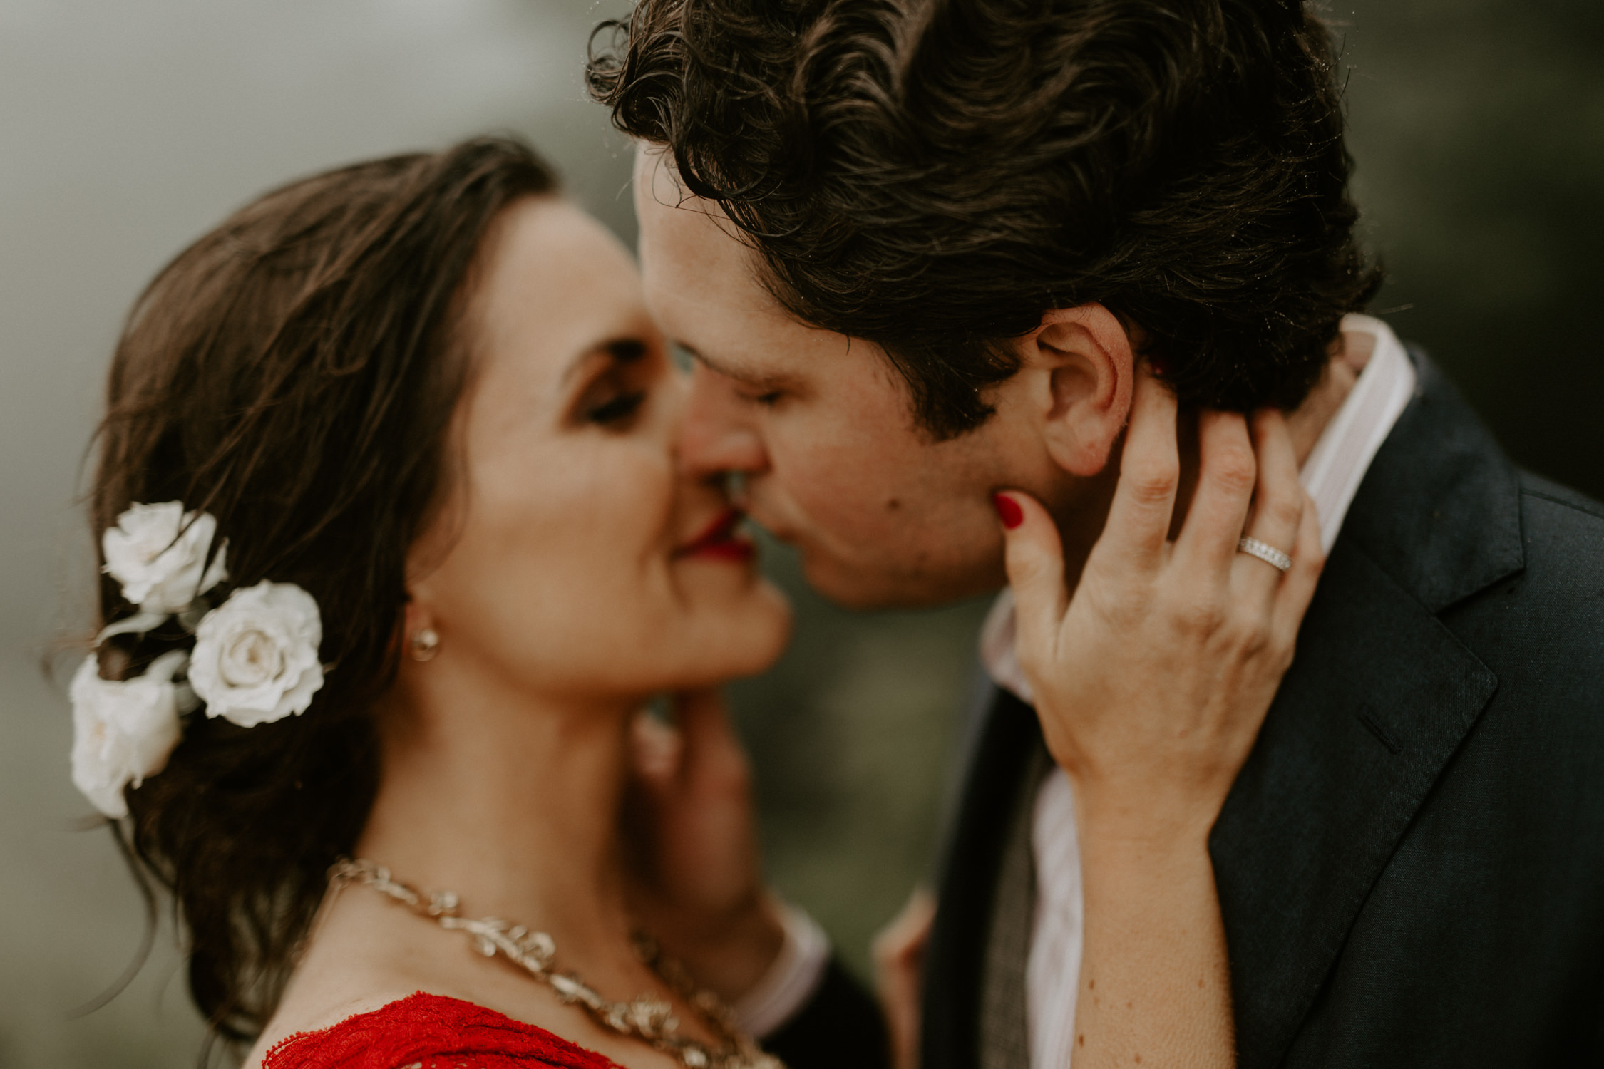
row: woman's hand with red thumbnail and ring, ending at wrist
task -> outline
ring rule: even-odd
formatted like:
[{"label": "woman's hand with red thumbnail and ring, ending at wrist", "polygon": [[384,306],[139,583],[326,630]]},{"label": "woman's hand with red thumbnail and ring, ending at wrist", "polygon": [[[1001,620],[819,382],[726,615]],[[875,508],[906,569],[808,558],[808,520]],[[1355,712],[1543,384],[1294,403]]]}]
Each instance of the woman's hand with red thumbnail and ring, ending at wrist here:
[{"label": "woman's hand with red thumbnail and ring, ending at wrist", "polygon": [[[1256,413],[1251,439],[1235,413],[1198,423],[1197,492],[1171,542],[1176,401],[1139,378],[1108,521],[1073,596],[1047,511],[1017,490],[998,495],[1019,516],[1007,572],[1047,748],[1078,803],[1115,825],[1129,816],[1140,837],[1208,833],[1291,664],[1323,563],[1282,413]],[[1291,571],[1240,553],[1243,534],[1286,551]]]}]

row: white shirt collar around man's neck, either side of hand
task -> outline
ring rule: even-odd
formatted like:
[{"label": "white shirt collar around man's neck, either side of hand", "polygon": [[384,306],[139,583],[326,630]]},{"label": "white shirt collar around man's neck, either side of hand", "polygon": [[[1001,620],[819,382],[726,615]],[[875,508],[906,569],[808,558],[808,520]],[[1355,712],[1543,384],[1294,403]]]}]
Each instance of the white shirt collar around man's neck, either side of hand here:
[{"label": "white shirt collar around man's neck, either side of hand", "polygon": [[[1392,327],[1371,316],[1344,316],[1343,333],[1351,335],[1351,351],[1370,348],[1370,359],[1343,405],[1325,425],[1301,479],[1320,516],[1320,545],[1330,553],[1343,529],[1347,506],[1370,470],[1381,442],[1415,393],[1415,365]],[[1359,345],[1355,345],[1359,343]],[[1031,702],[1030,681],[1014,652],[1014,595],[998,595],[980,628],[980,662],[993,683]]]}]

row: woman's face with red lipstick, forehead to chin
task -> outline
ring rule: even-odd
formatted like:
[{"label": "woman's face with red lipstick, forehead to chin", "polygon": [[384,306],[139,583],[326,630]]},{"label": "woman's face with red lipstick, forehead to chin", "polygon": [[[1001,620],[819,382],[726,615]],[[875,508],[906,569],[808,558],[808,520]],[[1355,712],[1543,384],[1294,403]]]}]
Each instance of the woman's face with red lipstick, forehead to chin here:
[{"label": "woman's face with red lipstick, forehead to chin", "polygon": [[722,487],[678,471],[685,381],[624,248],[531,197],[470,285],[452,503],[414,550],[411,590],[441,660],[587,699],[768,667],[789,611]]}]

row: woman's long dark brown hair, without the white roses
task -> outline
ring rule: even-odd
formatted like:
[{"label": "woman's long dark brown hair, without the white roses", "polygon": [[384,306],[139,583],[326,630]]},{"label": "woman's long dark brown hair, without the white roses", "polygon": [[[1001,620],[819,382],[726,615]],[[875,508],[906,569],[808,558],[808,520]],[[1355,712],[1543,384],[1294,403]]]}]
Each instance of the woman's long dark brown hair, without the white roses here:
[{"label": "woman's long dark brown hair, without the white roses", "polygon": [[[196,712],[114,825],[135,875],[172,891],[189,990],[226,1039],[271,1015],[329,865],[367,821],[407,550],[449,489],[467,282],[497,215],[553,186],[492,138],[294,183],[180,253],[117,345],[96,535],[133,502],[180,500],[217,518],[231,587],[297,583],[322,614],[330,668],[311,707],[249,729]],[[99,606],[106,622],[135,611],[111,579]],[[103,675],[184,641],[175,622],[111,639]]]}]

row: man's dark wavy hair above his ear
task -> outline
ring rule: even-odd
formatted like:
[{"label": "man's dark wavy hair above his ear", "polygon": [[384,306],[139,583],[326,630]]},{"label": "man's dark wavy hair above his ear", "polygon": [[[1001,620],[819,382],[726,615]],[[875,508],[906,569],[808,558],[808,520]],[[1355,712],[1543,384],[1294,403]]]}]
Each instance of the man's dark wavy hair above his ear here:
[{"label": "man's dark wavy hair above his ear", "polygon": [[1296,0],[638,0],[589,83],[796,317],[881,345],[935,438],[1100,301],[1182,402],[1294,407],[1379,285]]}]

